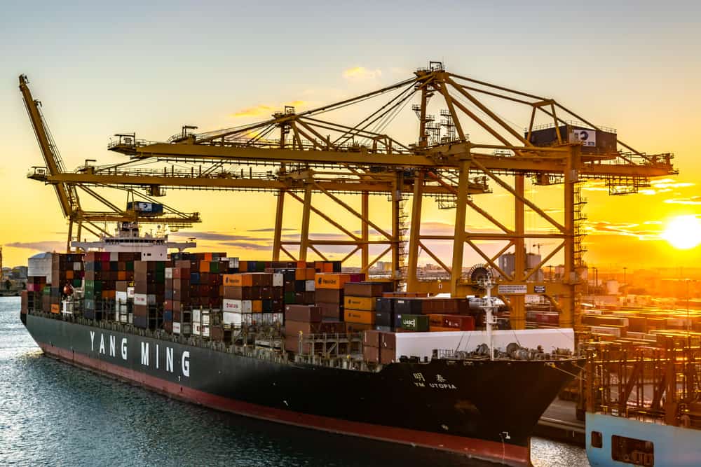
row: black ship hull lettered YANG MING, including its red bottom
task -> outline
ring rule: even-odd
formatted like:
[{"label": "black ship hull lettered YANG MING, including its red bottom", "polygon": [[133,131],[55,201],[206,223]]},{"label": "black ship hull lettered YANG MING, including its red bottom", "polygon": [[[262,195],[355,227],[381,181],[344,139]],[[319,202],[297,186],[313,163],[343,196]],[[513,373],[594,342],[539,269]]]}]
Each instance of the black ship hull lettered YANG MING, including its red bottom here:
[{"label": "black ship hull lettered YANG MING, including its red bottom", "polygon": [[29,314],[49,356],[174,398],[335,433],[530,465],[529,436],[578,361],[284,363]]}]

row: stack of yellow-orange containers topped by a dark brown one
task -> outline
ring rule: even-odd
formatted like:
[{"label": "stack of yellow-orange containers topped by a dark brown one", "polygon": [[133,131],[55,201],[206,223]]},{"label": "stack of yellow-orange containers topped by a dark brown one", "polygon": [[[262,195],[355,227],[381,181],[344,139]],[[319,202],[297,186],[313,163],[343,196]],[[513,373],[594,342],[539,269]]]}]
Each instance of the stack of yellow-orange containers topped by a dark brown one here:
[{"label": "stack of yellow-orange containers topped by a dark brown one", "polygon": [[346,282],[343,285],[343,321],[346,322],[346,332],[371,330],[376,318],[375,300],[392,287],[391,282]]}]

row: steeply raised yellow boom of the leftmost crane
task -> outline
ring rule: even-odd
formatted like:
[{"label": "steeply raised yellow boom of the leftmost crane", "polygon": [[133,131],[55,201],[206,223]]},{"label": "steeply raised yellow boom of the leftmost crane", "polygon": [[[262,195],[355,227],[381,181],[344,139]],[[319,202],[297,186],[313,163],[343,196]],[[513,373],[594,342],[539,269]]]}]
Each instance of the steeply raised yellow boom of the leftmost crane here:
[{"label": "steeply raised yellow boom of the leftmost crane", "polygon": [[[34,128],[34,134],[36,135],[36,141],[39,143],[39,148],[41,148],[41,155],[43,155],[44,162],[46,162],[46,167],[52,175],[62,174],[65,172],[63,167],[63,162],[61,160],[58,149],[53,142],[51,133],[48,130],[48,125],[46,125],[46,120],[43,118],[41,109],[39,106],[41,102],[34,100],[32,97],[32,92],[29,90],[27,85],[26,75],[20,75],[20,91],[22,92],[22,99],[25,101],[25,106],[27,107],[27,113],[29,114],[29,121],[32,123]],[[54,186],[56,190],[56,195],[58,201],[61,205],[61,210],[63,215],[70,218],[76,209],[80,208],[80,201],[78,193],[76,193],[76,188],[67,183],[57,183]]]}]

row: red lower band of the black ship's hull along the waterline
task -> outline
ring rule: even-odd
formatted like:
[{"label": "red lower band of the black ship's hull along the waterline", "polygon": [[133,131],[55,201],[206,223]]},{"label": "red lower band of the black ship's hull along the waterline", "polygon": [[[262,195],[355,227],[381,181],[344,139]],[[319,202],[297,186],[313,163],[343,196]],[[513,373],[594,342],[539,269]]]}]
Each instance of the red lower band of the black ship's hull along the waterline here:
[{"label": "red lower band of the black ship's hull along the waterline", "polygon": [[165,379],[145,375],[142,372],[122,368],[121,366],[105,361],[90,358],[83,354],[53,347],[48,344],[39,344],[41,349],[48,354],[67,361],[74,365],[94,370],[104,375],[111,375],[128,382],[139,384],[152,391],[163,393],[167,396],[211,407],[213,409],[232,412],[235,414],[276,421],[278,423],[300,426],[302,428],[314,428],[331,433],[360,436],[373,440],[398,442],[404,445],[428,447],[442,451],[455,452],[475,459],[503,463],[508,466],[531,466],[530,452],[526,447],[508,445],[462,436],[442,435],[427,431],[415,431],[407,428],[366,424],[360,421],[348,421],[322,417],[320,415],[302,414],[291,410],[281,410],[264,405],[246,403],[240,400],[215,396],[214,394],[180,386]]}]

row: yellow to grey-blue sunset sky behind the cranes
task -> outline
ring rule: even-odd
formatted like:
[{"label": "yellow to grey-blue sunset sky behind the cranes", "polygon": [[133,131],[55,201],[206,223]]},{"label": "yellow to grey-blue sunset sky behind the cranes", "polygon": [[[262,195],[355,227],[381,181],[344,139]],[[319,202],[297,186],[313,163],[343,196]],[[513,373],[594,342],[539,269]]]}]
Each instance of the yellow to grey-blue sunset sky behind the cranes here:
[{"label": "yellow to grey-blue sunset sky behind the cranes", "polygon": [[[654,181],[638,195],[609,197],[600,183],[587,184],[586,260],[612,268],[701,264],[701,246],[675,249],[662,238],[674,218],[701,217],[701,6],[694,2],[142,3],[4,7],[5,265],[25,263],[36,251],[60,250],[67,232],[53,190],[25,178],[43,160],[19,74],[29,76],[64,162],[74,169],[85,159],[123,160],[106,150],[117,132],[165,141],[183,124],[206,131],[264,120],[284,105],[310,109],[410,78],[429,60],[557,99],[594,123],[615,127],[640,151],[674,153],[679,176]],[[509,116],[523,127],[528,117]],[[395,134],[408,144],[416,141],[418,123],[415,117],[405,121]],[[552,202],[552,193],[559,193],[552,190],[526,188],[557,214],[562,206],[559,198]],[[498,190],[475,197],[495,213],[504,200]],[[165,202],[200,211],[204,222],[179,236],[198,237],[201,249],[270,257],[273,196],[177,192]],[[300,209],[292,200],[288,205],[285,232],[292,238]],[[386,228],[388,209],[385,197],[374,197],[374,219]],[[360,228],[339,216],[349,228]],[[451,216],[454,211],[427,200],[423,231],[451,232]],[[542,227],[531,214],[526,225]],[[484,223],[468,216],[468,227],[478,230]],[[311,230],[329,238],[335,232],[317,220]],[[448,245],[435,247],[449,256]]]}]

